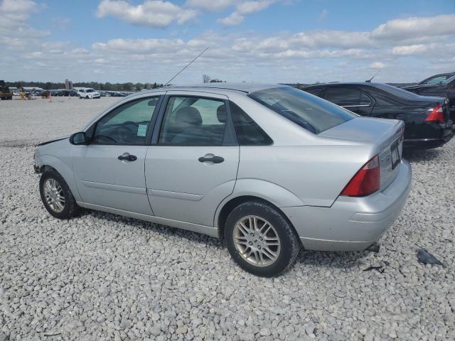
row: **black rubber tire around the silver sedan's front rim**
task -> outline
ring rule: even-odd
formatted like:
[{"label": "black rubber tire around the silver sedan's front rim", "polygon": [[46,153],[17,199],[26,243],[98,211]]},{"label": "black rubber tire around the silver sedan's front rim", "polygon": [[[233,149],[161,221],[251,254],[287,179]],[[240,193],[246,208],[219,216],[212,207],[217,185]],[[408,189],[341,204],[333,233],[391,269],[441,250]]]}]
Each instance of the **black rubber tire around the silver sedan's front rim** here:
[{"label": "black rubber tire around the silver sedan's front rim", "polygon": [[[44,193],[44,185],[45,181],[48,179],[53,179],[55,180],[58,185],[60,185],[61,188],[61,195],[65,198],[65,204],[63,206],[63,210],[61,212],[56,212],[48,203],[48,201],[45,199],[45,193]],[[66,183],[65,179],[63,179],[62,175],[60,175],[57,171],[53,169],[49,169],[48,171],[45,171],[40,178],[40,195],[41,195],[41,200],[43,201],[44,207],[50,215],[53,215],[53,217],[56,217],[58,219],[69,219],[71,217],[74,217],[75,214],[77,213],[78,206],[76,204],[76,200],[73,197],[73,193],[71,193],[70,188],[68,187],[68,184]]]}]

